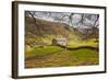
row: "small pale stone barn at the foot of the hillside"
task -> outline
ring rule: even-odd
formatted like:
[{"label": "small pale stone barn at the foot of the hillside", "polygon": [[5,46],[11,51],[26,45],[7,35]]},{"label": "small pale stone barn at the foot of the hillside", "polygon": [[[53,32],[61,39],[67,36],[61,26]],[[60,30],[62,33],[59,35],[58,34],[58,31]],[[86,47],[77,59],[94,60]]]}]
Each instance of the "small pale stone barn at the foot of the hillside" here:
[{"label": "small pale stone barn at the foot of the hillside", "polygon": [[53,38],[52,39],[52,45],[57,46],[57,45],[62,45],[62,46],[66,46],[68,45],[68,39],[64,37],[61,38]]}]

